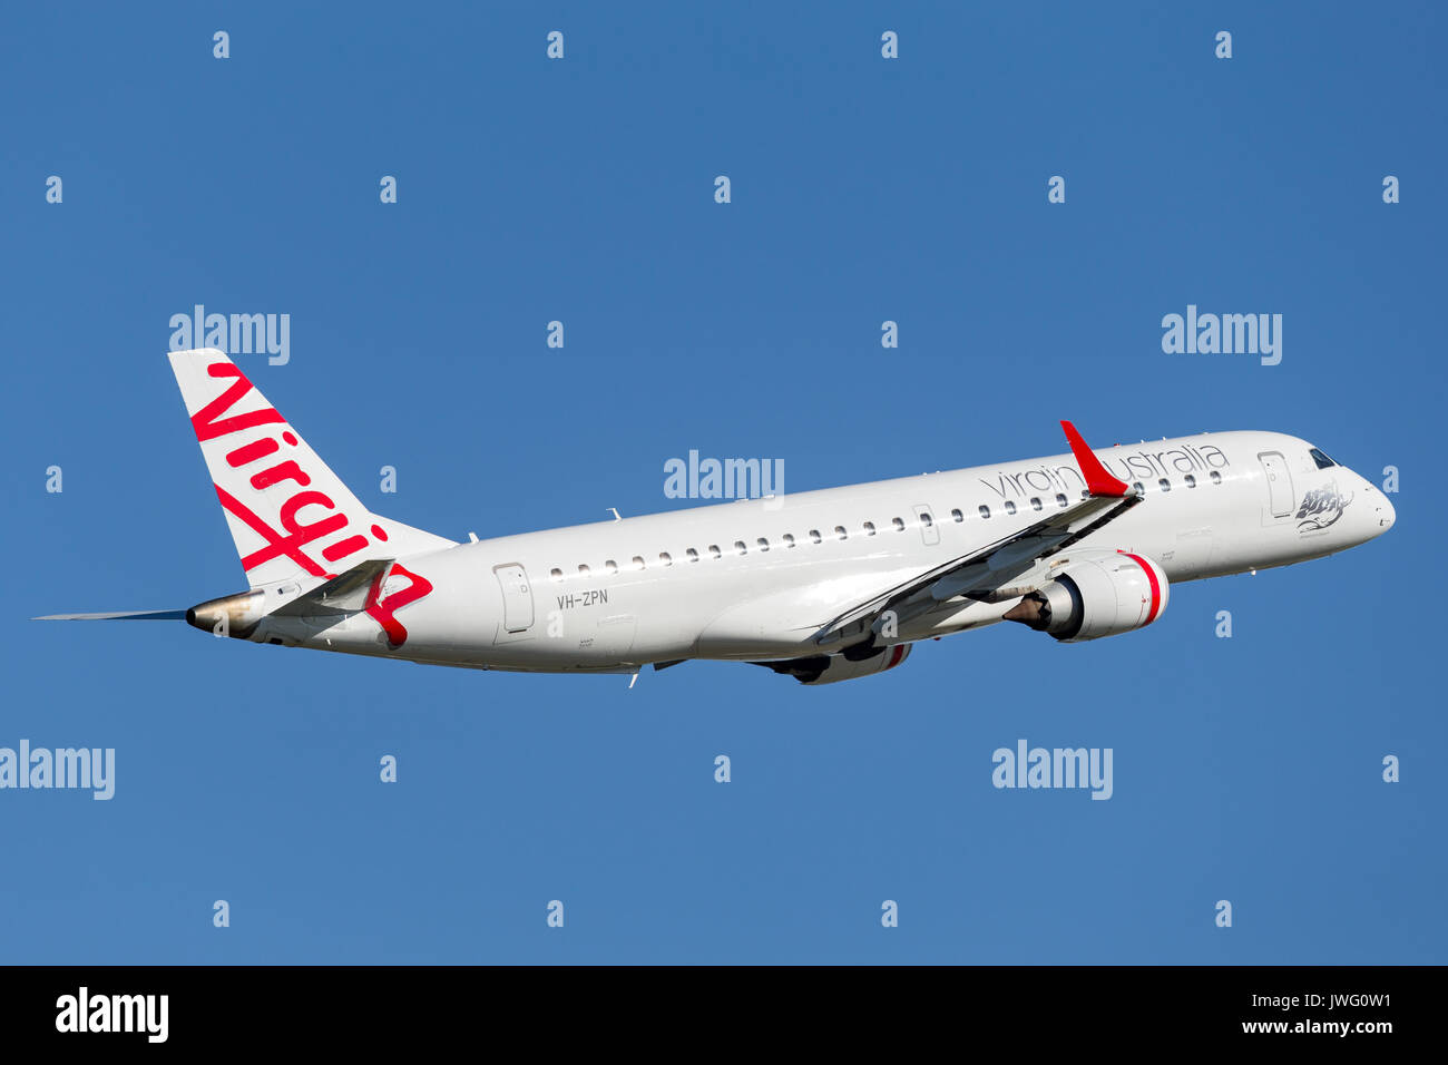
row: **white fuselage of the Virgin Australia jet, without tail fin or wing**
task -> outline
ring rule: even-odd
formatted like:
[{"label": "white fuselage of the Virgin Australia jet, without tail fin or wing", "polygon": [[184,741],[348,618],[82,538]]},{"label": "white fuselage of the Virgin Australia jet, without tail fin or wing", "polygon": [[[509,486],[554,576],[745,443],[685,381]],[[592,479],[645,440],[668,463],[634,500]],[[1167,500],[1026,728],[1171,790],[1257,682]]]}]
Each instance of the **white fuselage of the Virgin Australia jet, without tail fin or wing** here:
[{"label": "white fuselage of the Virgin Australia jet, without tail fin or wing", "polygon": [[[1145,497],[1072,551],[1147,555],[1173,582],[1321,558],[1393,523],[1381,491],[1345,467],[1321,468],[1310,445],[1281,433],[1095,454]],[[1053,455],[501,536],[403,559],[430,587],[397,610],[400,646],[366,614],[268,619],[259,636],[539,672],[817,655],[812,638],[841,611],[1079,501],[1083,488],[1072,455]],[[953,598],[889,642],[992,625],[1015,601]]]}]

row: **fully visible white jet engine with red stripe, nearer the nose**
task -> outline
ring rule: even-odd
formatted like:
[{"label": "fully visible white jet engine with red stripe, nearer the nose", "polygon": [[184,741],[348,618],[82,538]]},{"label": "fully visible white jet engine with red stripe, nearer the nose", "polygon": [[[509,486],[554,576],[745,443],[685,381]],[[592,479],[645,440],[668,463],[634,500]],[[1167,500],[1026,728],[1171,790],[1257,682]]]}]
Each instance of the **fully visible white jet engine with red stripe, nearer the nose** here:
[{"label": "fully visible white jet engine with red stripe, nearer the nose", "polygon": [[1002,617],[1073,643],[1145,627],[1161,617],[1169,597],[1161,567],[1119,551],[1072,562]]}]

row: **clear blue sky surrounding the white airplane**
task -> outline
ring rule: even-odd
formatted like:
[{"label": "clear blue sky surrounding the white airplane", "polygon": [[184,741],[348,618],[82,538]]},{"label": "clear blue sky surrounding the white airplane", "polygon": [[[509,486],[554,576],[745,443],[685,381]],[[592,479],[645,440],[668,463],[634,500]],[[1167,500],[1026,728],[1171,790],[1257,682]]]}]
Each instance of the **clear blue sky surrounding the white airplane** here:
[{"label": "clear blue sky surrounding the white airplane", "polygon": [[[0,961],[1448,961],[1439,6],[4,22],[0,745],[114,748],[117,781],[0,791]],[[164,358],[197,303],[290,314],[258,387],[459,539],[683,506],[691,448],[805,490],[1056,454],[1060,417],[1300,435],[1397,467],[1399,520],[1140,633],[999,626],[808,691],[28,620],[245,585]],[[1281,364],[1164,355],[1189,303],[1283,314]],[[1111,746],[1112,800],[992,788],[1019,738]]]}]

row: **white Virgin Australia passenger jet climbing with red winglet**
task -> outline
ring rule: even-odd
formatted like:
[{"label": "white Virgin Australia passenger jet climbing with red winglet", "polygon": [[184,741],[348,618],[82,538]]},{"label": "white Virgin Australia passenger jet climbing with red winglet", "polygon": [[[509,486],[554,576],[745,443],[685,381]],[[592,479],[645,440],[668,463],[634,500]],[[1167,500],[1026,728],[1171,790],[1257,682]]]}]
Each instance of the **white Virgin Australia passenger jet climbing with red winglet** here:
[{"label": "white Virgin Australia passenger jet climbing with red winglet", "polygon": [[750,662],[802,684],[893,669],[998,622],[1063,643],[1157,622],[1174,582],[1323,558],[1393,504],[1306,440],[1219,432],[468,543],[371,513],[214,348],[169,354],[248,590],[217,636],[517,672]]}]

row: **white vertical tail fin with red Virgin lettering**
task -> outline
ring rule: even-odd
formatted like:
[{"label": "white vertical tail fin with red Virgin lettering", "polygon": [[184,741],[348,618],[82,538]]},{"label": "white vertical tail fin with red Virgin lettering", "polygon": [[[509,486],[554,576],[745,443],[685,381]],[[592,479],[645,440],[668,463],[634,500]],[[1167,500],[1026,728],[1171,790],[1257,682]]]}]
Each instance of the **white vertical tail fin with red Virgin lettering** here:
[{"label": "white vertical tail fin with red Virgin lettering", "polygon": [[251,587],[317,585],[368,559],[456,543],[363,507],[223,352],[169,358]]}]

